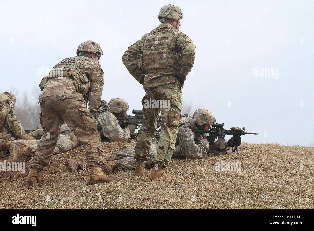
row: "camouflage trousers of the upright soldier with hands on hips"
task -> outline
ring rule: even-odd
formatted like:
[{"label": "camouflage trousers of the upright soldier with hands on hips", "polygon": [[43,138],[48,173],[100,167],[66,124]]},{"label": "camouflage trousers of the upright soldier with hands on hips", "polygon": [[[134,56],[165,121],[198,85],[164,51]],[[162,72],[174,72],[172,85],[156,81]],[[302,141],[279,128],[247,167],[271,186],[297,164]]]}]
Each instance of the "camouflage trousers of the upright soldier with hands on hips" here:
[{"label": "camouflage trousers of the upright soldier with hands on hips", "polygon": [[[166,102],[164,107],[160,107],[161,103],[158,103],[163,102],[162,100]],[[154,104],[155,102],[157,103]],[[177,84],[166,84],[146,89],[146,94],[142,100],[143,123],[138,131],[135,159],[148,161],[151,140],[156,131],[158,115],[161,112],[161,136],[153,165],[158,164],[160,167],[167,167],[175,149],[176,135],[181,119],[181,103],[182,90]]]}]

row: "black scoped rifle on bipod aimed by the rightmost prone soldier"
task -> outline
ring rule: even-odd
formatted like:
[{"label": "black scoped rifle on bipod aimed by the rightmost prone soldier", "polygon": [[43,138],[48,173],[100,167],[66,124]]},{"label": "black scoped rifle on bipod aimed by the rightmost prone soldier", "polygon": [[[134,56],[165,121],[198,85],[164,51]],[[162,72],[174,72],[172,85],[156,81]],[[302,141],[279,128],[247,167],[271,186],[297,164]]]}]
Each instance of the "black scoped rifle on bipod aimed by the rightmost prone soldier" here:
[{"label": "black scoped rifle on bipod aimed by the rightmost prone soldier", "polygon": [[[234,128],[231,129],[224,129],[225,124],[214,124],[212,125],[212,128],[209,130],[199,130],[199,129],[192,129],[192,132],[194,134],[205,134],[208,133],[209,135],[214,135],[218,137],[218,143],[219,143],[219,150],[209,150],[210,153],[222,153],[226,152],[228,149],[225,148],[225,135],[257,135],[257,132],[245,132],[245,128]],[[232,152],[239,152],[238,151],[238,145],[235,145],[235,148],[232,150]]]}]

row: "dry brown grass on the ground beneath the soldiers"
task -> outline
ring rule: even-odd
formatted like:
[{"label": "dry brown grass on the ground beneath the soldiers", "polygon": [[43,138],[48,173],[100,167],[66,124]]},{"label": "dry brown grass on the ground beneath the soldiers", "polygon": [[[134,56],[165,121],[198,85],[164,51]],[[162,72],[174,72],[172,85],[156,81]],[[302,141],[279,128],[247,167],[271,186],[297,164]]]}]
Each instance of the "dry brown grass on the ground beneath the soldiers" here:
[{"label": "dry brown grass on the ground beneath the soldiers", "polygon": [[[126,146],[122,148],[123,145]],[[133,145],[133,141],[103,143],[106,153]],[[88,184],[90,170],[73,175],[65,170],[65,159],[83,157],[81,150],[84,149],[78,147],[53,156],[52,163],[42,172],[40,187],[26,184],[28,168],[25,174],[0,172],[0,209],[314,208],[311,147],[243,143],[239,153],[198,160],[173,159],[165,170],[174,175],[169,180],[149,181],[151,170],[143,177],[120,171],[113,173],[118,177],[116,181],[97,185]],[[7,158],[0,156],[0,162]],[[215,163],[221,160],[241,162],[241,174],[215,171]],[[265,195],[267,201],[263,200]],[[46,201],[47,196],[50,201]]]}]

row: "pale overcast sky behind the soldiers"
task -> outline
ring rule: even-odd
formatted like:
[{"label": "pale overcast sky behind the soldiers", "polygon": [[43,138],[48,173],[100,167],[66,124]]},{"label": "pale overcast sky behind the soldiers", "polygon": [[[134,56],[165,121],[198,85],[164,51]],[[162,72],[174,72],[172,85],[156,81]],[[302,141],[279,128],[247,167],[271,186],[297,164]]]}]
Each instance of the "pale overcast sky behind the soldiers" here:
[{"label": "pale overcast sky behind the soldiers", "polygon": [[314,1],[1,0],[0,90],[38,87],[45,71],[94,40],[104,52],[102,98],[141,109],[145,91],[121,57],[169,3],[183,11],[180,30],[196,46],[183,107],[258,132],[242,136],[247,142],[314,145]]}]

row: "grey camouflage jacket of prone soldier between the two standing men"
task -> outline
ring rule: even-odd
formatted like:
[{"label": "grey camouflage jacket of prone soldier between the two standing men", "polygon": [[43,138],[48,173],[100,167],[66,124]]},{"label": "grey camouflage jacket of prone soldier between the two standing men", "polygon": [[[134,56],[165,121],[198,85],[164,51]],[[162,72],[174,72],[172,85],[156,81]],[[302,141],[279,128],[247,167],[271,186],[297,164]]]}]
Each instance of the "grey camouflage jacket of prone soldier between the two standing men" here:
[{"label": "grey camouflage jacket of prone soldier between the two standing men", "polygon": [[98,119],[102,125],[101,135],[103,135],[107,140],[116,142],[130,139],[130,128],[121,128],[119,121],[112,113],[108,103],[105,100],[101,101]]}]

